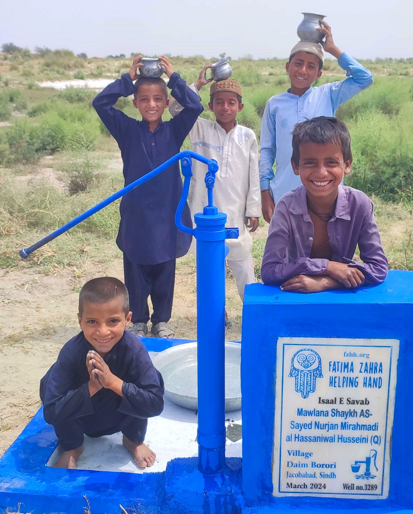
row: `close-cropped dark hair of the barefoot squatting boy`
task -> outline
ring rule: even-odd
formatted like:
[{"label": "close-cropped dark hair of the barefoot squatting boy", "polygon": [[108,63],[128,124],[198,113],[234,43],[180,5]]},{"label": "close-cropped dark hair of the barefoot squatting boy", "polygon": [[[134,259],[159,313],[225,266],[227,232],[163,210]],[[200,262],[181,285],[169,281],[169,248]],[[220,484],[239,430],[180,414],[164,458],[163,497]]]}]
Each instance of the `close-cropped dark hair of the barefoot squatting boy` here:
[{"label": "close-cropped dark hair of the barefoot squatting boy", "polygon": [[129,294],[123,282],[114,277],[99,277],[86,282],[79,293],[79,314],[83,314],[85,303],[108,303],[119,299],[122,310],[129,313]]}]

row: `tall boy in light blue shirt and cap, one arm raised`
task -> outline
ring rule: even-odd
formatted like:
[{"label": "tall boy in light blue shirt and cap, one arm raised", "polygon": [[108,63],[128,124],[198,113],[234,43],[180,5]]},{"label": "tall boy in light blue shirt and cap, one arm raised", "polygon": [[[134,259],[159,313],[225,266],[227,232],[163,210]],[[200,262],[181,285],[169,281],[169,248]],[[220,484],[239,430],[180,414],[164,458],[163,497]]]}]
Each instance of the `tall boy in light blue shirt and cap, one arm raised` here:
[{"label": "tall boy in light blue shirt and cap, one arm raised", "polygon": [[[268,100],[261,125],[260,187],[262,212],[268,223],[281,196],[301,185],[290,162],[293,126],[317,116],[334,116],[340,104],[366,89],[373,81],[368,69],[335,45],[329,25],[321,24],[317,30],[326,36],[321,45],[338,59],[348,78],[311,87],[322,74],[323,48],[319,44],[305,42],[292,48],[289,62],[285,65],[291,87]],[[275,175],[272,171],[274,161],[277,164]]]}]

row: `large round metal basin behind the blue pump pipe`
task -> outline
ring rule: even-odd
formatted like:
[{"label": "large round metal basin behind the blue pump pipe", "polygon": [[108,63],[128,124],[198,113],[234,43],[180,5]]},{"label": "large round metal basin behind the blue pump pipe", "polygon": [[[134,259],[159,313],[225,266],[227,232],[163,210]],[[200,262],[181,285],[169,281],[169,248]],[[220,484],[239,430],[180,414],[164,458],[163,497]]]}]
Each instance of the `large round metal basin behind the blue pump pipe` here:
[{"label": "large round metal basin behind the blue pump pipe", "polygon": [[[198,410],[196,342],[172,346],[152,357],[165,381],[165,396],[186,409]],[[241,409],[241,344],[225,343],[225,411]]]}]

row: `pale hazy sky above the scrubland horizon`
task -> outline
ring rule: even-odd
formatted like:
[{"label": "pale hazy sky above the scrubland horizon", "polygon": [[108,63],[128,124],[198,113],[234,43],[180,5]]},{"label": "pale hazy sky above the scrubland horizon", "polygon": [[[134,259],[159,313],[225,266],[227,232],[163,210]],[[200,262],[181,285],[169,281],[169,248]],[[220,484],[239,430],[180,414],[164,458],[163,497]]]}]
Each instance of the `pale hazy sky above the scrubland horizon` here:
[{"label": "pale hazy sky above the scrubland horizon", "polygon": [[0,9],[0,44],[88,57],[139,51],[285,58],[298,41],[302,11],[325,14],[335,43],[353,57],[413,57],[411,0],[8,0]]}]

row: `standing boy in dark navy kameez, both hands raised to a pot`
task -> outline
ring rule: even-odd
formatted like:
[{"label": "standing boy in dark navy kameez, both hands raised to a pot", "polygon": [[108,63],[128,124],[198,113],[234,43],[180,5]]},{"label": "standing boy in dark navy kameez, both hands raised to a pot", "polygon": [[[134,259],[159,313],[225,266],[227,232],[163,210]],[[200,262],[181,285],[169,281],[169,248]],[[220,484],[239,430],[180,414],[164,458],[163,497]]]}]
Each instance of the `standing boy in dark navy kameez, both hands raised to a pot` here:
[{"label": "standing boy in dark navy kameez, both hands raised to a pot", "polygon": [[[178,153],[185,137],[203,107],[198,96],[174,72],[169,59],[160,58],[169,77],[172,96],[184,106],[170,121],[162,115],[169,100],[162,78],[136,75],[142,56],[134,58],[128,74],[109,84],[93,100],[93,106],[122,153],[125,185],[142,177]],[[133,80],[136,80],[133,84]],[[126,116],[113,105],[120,97],[134,95],[133,105],[142,121]],[[149,321],[148,297],[153,314],[152,333],[173,337],[167,325],[171,316],[175,280],[175,259],[185,255],[191,236],[175,227],[174,214],[182,192],[179,164],[126,194],[121,201],[121,224],[116,243],[123,251],[125,284],[132,310],[132,332],[144,336]],[[182,214],[184,225],[191,225],[189,208]]]}]

